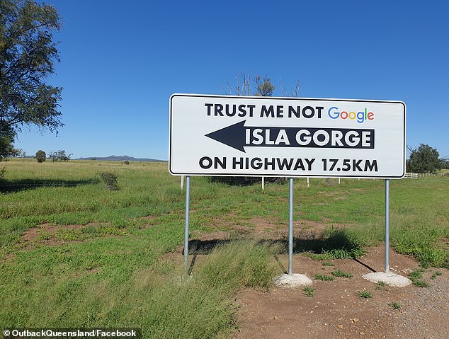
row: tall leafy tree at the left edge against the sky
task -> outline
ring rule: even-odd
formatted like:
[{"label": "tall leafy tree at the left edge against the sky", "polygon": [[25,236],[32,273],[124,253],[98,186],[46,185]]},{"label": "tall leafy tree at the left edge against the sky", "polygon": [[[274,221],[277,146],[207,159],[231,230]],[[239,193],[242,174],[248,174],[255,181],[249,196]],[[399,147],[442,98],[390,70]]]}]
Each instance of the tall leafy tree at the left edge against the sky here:
[{"label": "tall leafy tree at the left edge against the sky", "polygon": [[31,0],[0,1],[0,154],[13,148],[24,125],[57,132],[60,87],[45,83],[59,62],[53,33],[61,18],[55,8]]}]

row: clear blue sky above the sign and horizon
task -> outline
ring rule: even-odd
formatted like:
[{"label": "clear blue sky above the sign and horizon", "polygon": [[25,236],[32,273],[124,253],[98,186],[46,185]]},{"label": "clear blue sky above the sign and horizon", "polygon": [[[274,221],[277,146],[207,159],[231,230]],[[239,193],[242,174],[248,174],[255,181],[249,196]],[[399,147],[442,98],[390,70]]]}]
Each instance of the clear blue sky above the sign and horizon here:
[{"label": "clear blue sky above the sign and horizon", "polygon": [[15,145],[72,158],[168,159],[172,93],[224,94],[246,71],[301,97],[402,100],[407,144],[449,157],[448,1],[64,1],[56,136]]}]

